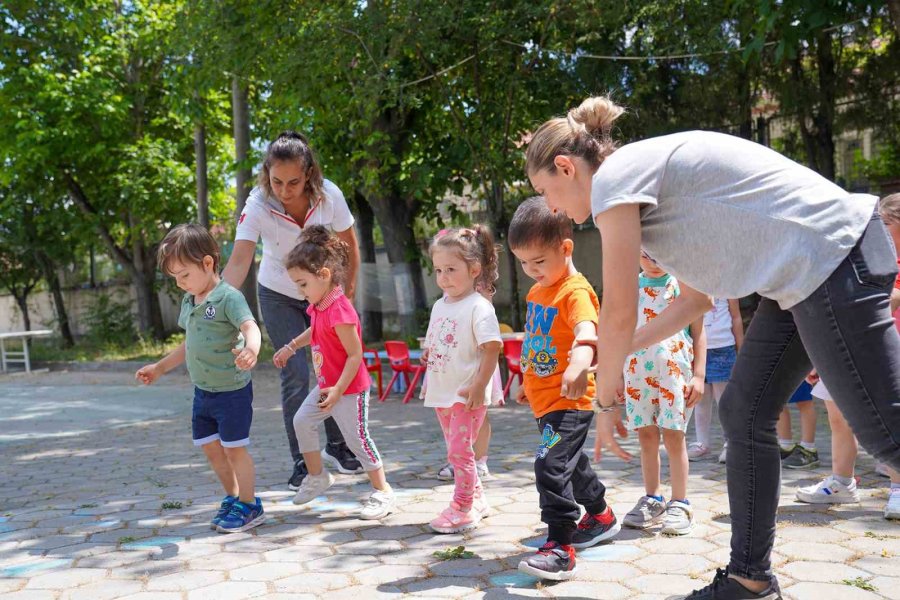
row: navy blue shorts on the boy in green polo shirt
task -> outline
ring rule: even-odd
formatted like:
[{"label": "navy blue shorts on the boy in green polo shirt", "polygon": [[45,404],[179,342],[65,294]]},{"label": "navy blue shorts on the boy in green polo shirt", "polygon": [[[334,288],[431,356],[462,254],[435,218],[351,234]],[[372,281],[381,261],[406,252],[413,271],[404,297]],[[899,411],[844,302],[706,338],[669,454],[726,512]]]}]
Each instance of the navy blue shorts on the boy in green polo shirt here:
[{"label": "navy blue shorts on the boy in green polo shirt", "polygon": [[221,440],[226,448],[250,443],[253,422],[253,383],[230,392],[207,392],[194,388],[194,445]]}]

